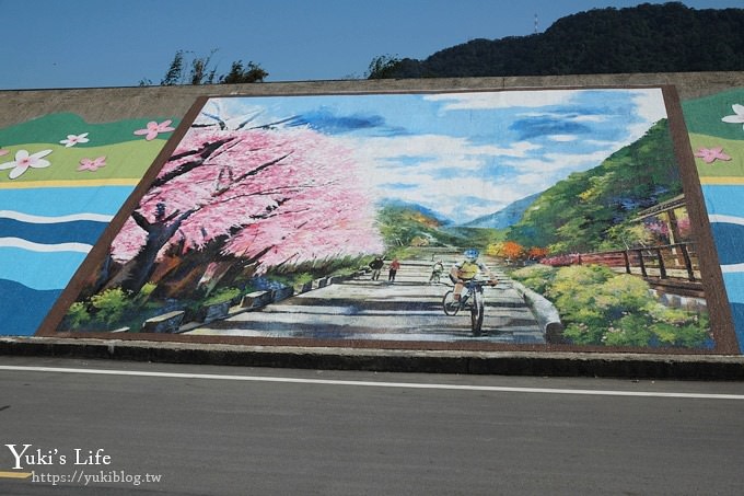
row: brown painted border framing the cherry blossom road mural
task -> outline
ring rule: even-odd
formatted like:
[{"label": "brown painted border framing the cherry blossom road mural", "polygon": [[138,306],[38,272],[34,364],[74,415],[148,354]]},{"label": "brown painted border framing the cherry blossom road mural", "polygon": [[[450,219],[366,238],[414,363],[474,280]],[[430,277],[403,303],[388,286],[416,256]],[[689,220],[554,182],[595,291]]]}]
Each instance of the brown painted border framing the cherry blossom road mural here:
[{"label": "brown painted border framing the cherry blossom road mural", "polygon": [[[166,163],[175,148],[186,135],[199,112],[212,97],[252,97],[252,96],[321,96],[321,95],[364,95],[364,94],[440,94],[452,92],[509,92],[509,91],[546,91],[546,90],[593,90],[593,89],[660,89],[666,107],[670,131],[674,143],[675,155],[679,165],[683,189],[687,204],[690,222],[695,226],[696,244],[699,253],[699,264],[702,286],[710,316],[710,328],[714,339],[712,349],[679,349],[671,347],[600,347],[584,345],[518,345],[493,344],[477,342],[400,342],[400,341],[340,341],[297,337],[235,337],[235,336],[191,336],[181,334],[156,333],[111,333],[111,332],[57,332],[69,307],[75,301],[84,286],[84,280],[104,259],[109,245],[117,235],[124,222],[137,208],[139,200],[150,188],[160,170]],[[105,229],[95,246],[91,250],[84,262],[73,275],[70,284],[65,288],[61,296],[37,330],[36,336],[59,338],[98,338],[98,339],[124,339],[144,342],[172,342],[172,343],[201,343],[201,344],[234,344],[254,346],[292,346],[292,347],[344,347],[368,349],[400,349],[400,350],[463,350],[463,351],[580,351],[580,353],[626,353],[626,354],[674,354],[674,355],[735,355],[740,353],[735,336],[733,319],[729,300],[723,285],[718,252],[716,250],[707,210],[702,197],[702,189],[695,165],[689,136],[685,125],[682,105],[677,90],[671,84],[643,84],[643,85],[570,85],[570,86],[544,86],[544,88],[478,88],[478,89],[437,89],[432,91],[421,90],[395,90],[395,91],[365,91],[365,92],[317,92],[317,93],[274,93],[274,94],[213,94],[198,96],[190,109],[182,119],[179,126],[171,136],[166,145],[158,154],[152,165],[139,182],[135,191],[121,206],[117,215]]]}]

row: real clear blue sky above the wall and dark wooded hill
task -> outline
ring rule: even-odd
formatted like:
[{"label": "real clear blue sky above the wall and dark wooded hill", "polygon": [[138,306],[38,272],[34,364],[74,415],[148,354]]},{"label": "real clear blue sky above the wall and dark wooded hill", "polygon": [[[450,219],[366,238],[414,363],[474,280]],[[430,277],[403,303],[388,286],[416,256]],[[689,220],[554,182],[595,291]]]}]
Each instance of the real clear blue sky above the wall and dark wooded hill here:
[{"label": "real clear blue sky above the wall and dark wooded hill", "polygon": [[[254,61],[267,82],[363,78],[381,55],[423,59],[475,38],[543,32],[602,0],[0,0],[0,90],[160,82],[176,50],[218,73]],[[694,9],[741,0],[686,0]]]}]

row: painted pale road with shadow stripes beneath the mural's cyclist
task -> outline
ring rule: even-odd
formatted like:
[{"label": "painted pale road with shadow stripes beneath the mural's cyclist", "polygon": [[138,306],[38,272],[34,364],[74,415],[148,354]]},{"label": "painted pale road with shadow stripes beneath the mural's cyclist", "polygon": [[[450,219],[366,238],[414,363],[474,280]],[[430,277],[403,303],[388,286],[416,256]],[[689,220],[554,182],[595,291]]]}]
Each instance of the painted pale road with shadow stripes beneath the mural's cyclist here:
[{"label": "painted pale road with shadow stripes beneath the mural's cyclist", "polygon": [[[444,257],[451,267],[455,257]],[[430,284],[432,262],[402,261],[395,281],[387,280],[386,264],[379,280],[370,275],[334,284],[261,311],[214,321],[187,334],[322,339],[394,339],[543,344],[544,335],[531,310],[503,272],[487,261],[501,282],[485,291],[485,320],[480,337],[470,331],[469,312],[447,316],[442,297],[452,289],[443,275]],[[445,270],[446,272],[446,270]]]}]

